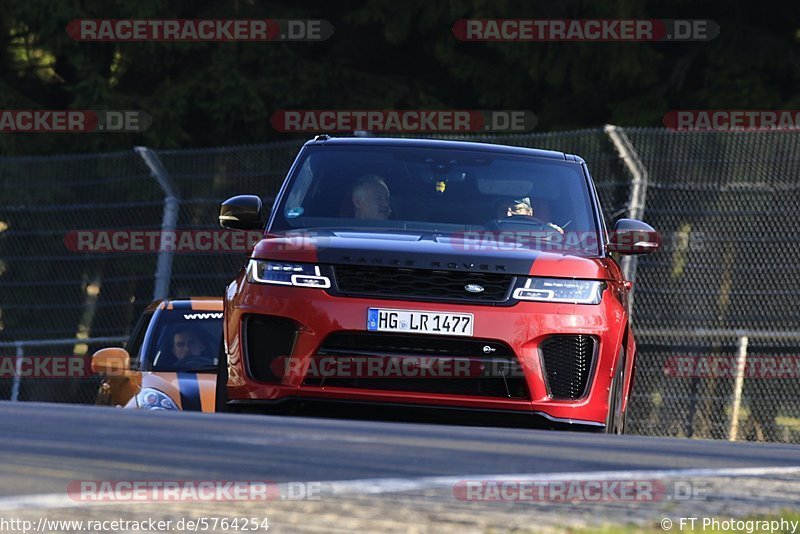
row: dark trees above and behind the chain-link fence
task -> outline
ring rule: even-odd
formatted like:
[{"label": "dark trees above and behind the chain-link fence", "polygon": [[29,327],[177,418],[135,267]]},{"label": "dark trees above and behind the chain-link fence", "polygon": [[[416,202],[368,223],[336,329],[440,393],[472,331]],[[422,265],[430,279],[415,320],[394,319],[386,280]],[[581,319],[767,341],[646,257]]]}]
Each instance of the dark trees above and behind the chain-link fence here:
[{"label": "dark trees above and behind the chain-link fence", "polygon": [[[142,110],[139,134],[0,136],[7,155],[286,139],[278,109],[524,109],[539,130],[659,126],[681,108],[796,108],[796,2],[29,0],[0,15],[0,108]],[[696,43],[462,42],[462,18],[707,18]],[[324,18],[324,42],[76,42],[82,18]]]}]

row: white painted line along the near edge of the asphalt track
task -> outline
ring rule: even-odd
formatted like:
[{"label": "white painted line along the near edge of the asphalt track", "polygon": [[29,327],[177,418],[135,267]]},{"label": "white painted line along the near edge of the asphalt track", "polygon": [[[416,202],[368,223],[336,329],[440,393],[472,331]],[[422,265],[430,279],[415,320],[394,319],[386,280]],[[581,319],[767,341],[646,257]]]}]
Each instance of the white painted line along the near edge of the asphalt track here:
[{"label": "white painted line along the near edge of the asphalt track", "polygon": [[[556,481],[603,481],[603,480],[640,480],[665,478],[731,478],[731,477],[765,477],[774,475],[800,476],[800,466],[789,467],[730,467],[719,469],[659,469],[628,471],[589,471],[577,473],[512,473],[505,475],[460,475],[417,478],[364,478],[356,480],[336,480],[309,482],[309,486],[320,489],[319,496],[334,495],[377,495],[382,493],[402,493],[432,489],[450,489],[457,483],[471,481],[503,481],[534,480],[540,482]],[[293,483],[296,484],[296,483]],[[279,484],[285,490],[288,483]],[[66,489],[66,488],[65,488]],[[285,494],[282,492],[282,494]],[[80,508],[98,505],[136,505],[152,501],[111,501],[92,502],[75,501],[66,491],[35,495],[0,497],[0,512],[20,509],[42,508]],[[189,501],[187,501],[189,502]],[[205,502],[205,501],[198,501]],[[185,504],[185,503],[184,503]]]}]

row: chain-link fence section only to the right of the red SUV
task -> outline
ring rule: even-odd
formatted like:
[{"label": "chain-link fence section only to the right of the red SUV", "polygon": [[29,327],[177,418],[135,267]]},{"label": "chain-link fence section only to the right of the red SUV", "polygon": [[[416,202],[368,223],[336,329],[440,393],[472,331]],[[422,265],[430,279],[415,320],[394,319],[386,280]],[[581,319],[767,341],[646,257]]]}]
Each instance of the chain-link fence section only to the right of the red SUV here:
[{"label": "chain-link fence section only to the right of the red SUV", "polygon": [[800,134],[626,133],[666,243],[638,262],[631,430],[800,442]]}]

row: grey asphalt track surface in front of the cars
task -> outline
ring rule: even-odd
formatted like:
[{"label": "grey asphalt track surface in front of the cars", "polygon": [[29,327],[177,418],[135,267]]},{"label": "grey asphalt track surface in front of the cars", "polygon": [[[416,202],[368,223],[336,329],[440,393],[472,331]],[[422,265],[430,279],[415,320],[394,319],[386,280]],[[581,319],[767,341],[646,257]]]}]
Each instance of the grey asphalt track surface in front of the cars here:
[{"label": "grey asphalt track surface in front of the cars", "polygon": [[396,485],[515,473],[724,475],[798,466],[797,445],[0,403],[1,498],[63,493],[74,480]]}]

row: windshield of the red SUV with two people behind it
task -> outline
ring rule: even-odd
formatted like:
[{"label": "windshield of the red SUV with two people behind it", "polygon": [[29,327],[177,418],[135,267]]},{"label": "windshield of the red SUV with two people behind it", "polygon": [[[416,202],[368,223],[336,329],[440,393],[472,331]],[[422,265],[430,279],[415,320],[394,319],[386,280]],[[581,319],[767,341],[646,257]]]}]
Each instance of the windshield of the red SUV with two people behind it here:
[{"label": "windshield of the red SUV with two people behind it", "polygon": [[574,162],[444,148],[312,146],[290,177],[271,230],[539,233],[552,234],[548,246],[597,254],[590,198]]}]

